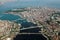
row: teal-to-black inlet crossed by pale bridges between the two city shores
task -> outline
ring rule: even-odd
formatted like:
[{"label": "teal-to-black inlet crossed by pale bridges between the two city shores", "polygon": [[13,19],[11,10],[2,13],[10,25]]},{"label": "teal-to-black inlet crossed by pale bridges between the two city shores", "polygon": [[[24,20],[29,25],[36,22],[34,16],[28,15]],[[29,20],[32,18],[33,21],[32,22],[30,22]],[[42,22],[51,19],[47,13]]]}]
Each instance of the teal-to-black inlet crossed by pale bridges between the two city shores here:
[{"label": "teal-to-black inlet crossed by pale bridges between the two city shores", "polygon": [[[22,19],[20,16],[18,15],[13,15],[13,14],[0,14],[0,20],[9,20],[9,21],[14,21],[17,19]],[[23,20],[17,20],[15,21],[17,23],[20,23],[22,25],[21,28],[26,28],[26,27],[30,27],[30,26],[37,26],[36,24],[33,24],[31,22],[28,22],[27,20],[23,19]],[[21,30],[20,33],[38,33],[40,31],[40,28],[34,28],[34,29],[28,29],[28,30]],[[25,34],[25,35],[17,35],[14,40],[46,40],[45,37],[43,37],[43,35],[41,34]]]}]

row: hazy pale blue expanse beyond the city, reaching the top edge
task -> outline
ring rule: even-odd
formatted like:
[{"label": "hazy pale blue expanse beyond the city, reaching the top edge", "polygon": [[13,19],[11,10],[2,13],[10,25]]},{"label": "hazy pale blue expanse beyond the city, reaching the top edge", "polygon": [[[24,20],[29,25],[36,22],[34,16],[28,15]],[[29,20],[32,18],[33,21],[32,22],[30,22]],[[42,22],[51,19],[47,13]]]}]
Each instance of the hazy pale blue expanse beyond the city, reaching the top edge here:
[{"label": "hazy pale blue expanse beyond the city, reaching the top edge", "polygon": [[60,9],[60,0],[0,0],[0,12],[12,8],[35,6]]}]

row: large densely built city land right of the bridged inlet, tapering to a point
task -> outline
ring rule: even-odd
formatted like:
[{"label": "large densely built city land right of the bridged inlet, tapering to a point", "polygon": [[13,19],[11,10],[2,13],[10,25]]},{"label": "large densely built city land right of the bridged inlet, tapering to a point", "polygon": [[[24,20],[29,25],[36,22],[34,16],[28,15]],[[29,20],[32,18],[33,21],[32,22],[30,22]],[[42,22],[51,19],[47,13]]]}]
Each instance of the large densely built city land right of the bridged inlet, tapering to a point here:
[{"label": "large densely built city land right of the bridged inlet, tapering to a point", "polygon": [[41,32],[49,36],[51,40],[57,40],[54,37],[60,33],[60,10],[52,8],[25,8],[25,10],[23,12],[10,11],[8,14],[19,15],[38,26],[42,25]]}]

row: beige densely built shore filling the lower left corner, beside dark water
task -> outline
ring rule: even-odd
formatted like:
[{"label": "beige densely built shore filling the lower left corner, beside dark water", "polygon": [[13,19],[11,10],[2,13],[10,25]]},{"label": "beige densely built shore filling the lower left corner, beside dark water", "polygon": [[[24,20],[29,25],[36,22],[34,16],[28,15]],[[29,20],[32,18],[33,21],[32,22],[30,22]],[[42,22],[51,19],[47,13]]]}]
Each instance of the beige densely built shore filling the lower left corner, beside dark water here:
[{"label": "beige densely built shore filling the lower left corner, beside dark water", "polygon": [[0,20],[0,40],[13,39],[19,33],[20,27],[21,25],[15,22]]}]

